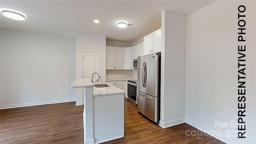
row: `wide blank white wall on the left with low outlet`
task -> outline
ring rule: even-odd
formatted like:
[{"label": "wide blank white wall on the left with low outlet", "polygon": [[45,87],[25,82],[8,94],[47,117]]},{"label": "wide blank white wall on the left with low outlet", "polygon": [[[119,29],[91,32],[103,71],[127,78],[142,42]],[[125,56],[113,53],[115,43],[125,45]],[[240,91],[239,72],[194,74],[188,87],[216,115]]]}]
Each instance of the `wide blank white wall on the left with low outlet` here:
[{"label": "wide blank white wall on the left with low outlet", "polygon": [[1,29],[0,46],[1,109],[76,100],[74,36]]}]

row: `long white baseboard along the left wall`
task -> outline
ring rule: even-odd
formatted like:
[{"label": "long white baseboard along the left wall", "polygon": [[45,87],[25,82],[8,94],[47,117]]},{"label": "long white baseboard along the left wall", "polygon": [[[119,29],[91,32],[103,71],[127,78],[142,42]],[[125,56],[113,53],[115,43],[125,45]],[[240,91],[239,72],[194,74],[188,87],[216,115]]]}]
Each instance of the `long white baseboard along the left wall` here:
[{"label": "long white baseboard along the left wall", "polygon": [[0,109],[7,109],[7,108],[20,108],[20,107],[26,107],[26,106],[38,106],[38,105],[44,105],[44,104],[56,104],[56,103],[62,103],[62,102],[75,102],[76,98],[72,99],[66,99],[66,100],[50,100],[45,102],[30,102],[30,103],[23,103],[23,104],[10,104],[10,105],[4,105],[0,106]]}]

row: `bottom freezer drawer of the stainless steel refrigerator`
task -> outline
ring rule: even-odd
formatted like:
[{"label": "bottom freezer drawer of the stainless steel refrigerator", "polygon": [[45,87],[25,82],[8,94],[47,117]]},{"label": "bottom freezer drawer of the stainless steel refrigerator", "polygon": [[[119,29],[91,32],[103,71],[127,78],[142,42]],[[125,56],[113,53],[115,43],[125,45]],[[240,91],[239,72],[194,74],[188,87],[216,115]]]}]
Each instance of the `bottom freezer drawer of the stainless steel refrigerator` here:
[{"label": "bottom freezer drawer of the stainless steel refrigerator", "polygon": [[144,116],[148,117],[153,122],[158,122],[157,119],[157,97],[150,96],[148,94],[144,94],[138,92],[138,111]]}]

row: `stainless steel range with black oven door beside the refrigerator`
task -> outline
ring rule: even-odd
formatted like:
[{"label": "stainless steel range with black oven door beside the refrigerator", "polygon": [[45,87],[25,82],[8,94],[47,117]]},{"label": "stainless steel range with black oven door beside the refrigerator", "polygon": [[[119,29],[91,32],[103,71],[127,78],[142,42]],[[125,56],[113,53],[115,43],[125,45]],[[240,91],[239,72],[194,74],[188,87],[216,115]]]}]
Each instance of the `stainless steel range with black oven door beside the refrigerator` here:
[{"label": "stainless steel range with black oven door beside the refrigerator", "polygon": [[128,80],[127,82],[128,102],[130,102],[134,106],[137,106],[137,83],[138,80]]}]

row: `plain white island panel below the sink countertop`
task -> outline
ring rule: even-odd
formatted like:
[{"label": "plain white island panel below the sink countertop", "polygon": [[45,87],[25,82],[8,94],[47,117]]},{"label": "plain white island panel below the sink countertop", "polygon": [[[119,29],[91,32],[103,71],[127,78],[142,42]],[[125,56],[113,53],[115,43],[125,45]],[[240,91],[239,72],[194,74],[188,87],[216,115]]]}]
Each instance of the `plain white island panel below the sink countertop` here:
[{"label": "plain white island panel below the sink countertop", "polygon": [[93,121],[94,144],[124,137],[124,94],[93,96]]}]

